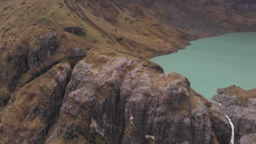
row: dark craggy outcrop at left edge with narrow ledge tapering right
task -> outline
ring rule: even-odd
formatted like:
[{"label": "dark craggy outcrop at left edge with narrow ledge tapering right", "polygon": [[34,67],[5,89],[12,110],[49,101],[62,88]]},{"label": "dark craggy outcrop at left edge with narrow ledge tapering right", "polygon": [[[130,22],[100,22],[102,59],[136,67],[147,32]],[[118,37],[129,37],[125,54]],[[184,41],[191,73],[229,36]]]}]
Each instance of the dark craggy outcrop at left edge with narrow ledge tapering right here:
[{"label": "dark craggy outcrop at left edge with narrow ledge tapering right", "polygon": [[[92,49],[92,46],[84,46],[83,49],[71,47],[58,51],[60,45],[56,32],[51,29],[3,45],[0,49],[3,51],[0,57],[0,107],[8,102],[15,88],[36,79],[63,59],[76,63]],[[53,56],[55,53],[58,54]]]}]

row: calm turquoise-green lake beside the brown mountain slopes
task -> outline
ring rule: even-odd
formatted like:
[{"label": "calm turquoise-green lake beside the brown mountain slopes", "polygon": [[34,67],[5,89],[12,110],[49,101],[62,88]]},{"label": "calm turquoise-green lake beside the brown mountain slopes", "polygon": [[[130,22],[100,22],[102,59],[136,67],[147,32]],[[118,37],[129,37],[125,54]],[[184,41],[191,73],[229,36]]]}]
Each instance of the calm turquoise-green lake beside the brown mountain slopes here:
[{"label": "calm turquoise-green lake beside the brown mountain slopes", "polygon": [[191,87],[207,99],[218,88],[231,85],[256,88],[256,32],[230,33],[190,41],[185,50],[150,59],[189,79]]}]

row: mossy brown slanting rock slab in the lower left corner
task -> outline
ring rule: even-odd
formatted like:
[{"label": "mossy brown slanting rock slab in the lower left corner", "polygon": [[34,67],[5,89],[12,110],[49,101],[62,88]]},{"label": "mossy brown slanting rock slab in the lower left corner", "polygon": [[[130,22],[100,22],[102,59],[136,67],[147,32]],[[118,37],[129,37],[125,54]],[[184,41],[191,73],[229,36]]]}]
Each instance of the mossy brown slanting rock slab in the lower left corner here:
[{"label": "mossy brown slanting rock slab in the lower left corner", "polygon": [[0,143],[43,143],[58,116],[70,75],[70,65],[61,63],[13,93],[0,112]]}]

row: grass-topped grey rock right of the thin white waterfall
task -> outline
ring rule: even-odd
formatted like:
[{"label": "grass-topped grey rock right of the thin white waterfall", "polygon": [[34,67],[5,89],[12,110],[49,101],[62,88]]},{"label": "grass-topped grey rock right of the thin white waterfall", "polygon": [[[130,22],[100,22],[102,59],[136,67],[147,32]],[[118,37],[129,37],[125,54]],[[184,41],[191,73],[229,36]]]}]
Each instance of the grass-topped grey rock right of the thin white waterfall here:
[{"label": "grass-topped grey rock right of the thin white waterfall", "polygon": [[213,100],[225,106],[225,111],[235,126],[235,143],[255,143],[256,110],[255,89],[245,91],[230,86],[218,90]]}]

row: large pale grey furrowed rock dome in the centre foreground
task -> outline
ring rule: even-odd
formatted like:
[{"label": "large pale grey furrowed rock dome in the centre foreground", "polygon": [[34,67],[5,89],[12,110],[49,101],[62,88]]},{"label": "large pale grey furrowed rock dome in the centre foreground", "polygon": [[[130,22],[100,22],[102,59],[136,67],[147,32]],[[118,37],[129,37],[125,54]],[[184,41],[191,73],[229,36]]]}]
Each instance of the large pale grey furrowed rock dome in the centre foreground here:
[{"label": "large pale grey furrowed rock dome in the centre foreground", "polygon": [[[91,57],[75,65],[60,118],[46,143],[210,143],[230,137],[222,111],[209,102],[210,114],[185,77],[161,74],[135,57],[100,55],[97,59],[106,62],[101,67],[88,63]],[[227,133],[217,134],[212,124]]]}]

